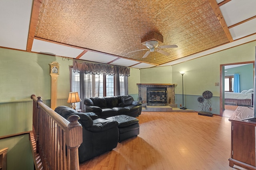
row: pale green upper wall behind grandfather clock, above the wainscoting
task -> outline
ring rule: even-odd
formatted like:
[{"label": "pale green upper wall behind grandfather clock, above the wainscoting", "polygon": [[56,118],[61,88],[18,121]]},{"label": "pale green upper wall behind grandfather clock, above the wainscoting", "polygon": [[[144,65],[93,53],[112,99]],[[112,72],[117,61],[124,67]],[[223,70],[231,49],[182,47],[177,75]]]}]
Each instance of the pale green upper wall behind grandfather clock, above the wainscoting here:
[{"label": "pale green upper wall behind grandfather clock, above the wainscoting", "polygon": [[53,61],[60,64],[57,98],[68,98],[71,60],[10,49],[0,49],[0,59],[0,102],[28,101],[31,94],[50,99],[49,64]]}]

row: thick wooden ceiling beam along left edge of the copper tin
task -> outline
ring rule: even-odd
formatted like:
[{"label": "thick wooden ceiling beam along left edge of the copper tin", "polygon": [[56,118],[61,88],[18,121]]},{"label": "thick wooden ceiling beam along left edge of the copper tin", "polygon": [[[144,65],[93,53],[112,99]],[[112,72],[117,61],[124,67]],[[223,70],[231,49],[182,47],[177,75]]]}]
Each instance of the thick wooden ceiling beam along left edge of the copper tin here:
[{"label": "thick wooden ceiling beam along left edge of the copper tin", "polygon": [[42,4],[42,0],[34,0],[32,7],[32,15],[30,19],[29,31],[28,31],[28,41],[26,51],[31,52],[34,37],[36,34],[36,25],[39,18],[40,6]]}]

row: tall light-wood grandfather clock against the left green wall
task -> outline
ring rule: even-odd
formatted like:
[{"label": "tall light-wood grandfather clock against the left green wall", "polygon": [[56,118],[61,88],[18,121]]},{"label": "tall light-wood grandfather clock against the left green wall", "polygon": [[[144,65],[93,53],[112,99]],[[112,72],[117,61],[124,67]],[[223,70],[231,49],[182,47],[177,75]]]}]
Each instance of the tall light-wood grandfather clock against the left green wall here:
[{"label": "tall light-wood grandfather clock against the left green wall", "polygon": [[57,106],[57,79],[60,72],[60,65],[54,61],[50,65],[50,76],[51,76],[51,109],[55,109]]}]

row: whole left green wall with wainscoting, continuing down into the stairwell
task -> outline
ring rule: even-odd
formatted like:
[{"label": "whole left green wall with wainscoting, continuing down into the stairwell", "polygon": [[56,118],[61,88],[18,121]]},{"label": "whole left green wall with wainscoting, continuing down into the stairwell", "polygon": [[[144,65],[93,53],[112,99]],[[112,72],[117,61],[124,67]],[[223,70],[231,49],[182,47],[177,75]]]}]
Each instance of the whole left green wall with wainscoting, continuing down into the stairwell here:
[{"label": "whole left green wall with wainscoting, continuing down into the stairwell", "polygon": [[[57,104],[66,105],[71,60],[0,48],[0,136],[32,130],[32,94],[42,96],[50,107],[49,64],[53,61],[60,64]],[[5,147],[9,148],[8,170],[34,169],[28,135],[0,140],[0,149]]]}]

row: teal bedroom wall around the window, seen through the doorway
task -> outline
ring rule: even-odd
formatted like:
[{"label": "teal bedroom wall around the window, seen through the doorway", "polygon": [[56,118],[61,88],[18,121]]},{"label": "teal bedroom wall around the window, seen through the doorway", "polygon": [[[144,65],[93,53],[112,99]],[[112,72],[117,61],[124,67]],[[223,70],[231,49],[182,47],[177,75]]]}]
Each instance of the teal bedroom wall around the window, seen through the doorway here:
[{"label": "teal bedroom wall around the window, seen through the doorway", "polygon": [[248,90],[250,88],[253,88],[253,64],[246,64],[239,67],[229,68],[225,69],[225,75],[234,75],[234,74],[240,74],[240,92],[242,90]]}]

